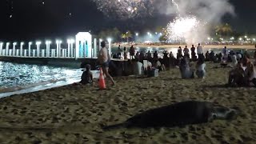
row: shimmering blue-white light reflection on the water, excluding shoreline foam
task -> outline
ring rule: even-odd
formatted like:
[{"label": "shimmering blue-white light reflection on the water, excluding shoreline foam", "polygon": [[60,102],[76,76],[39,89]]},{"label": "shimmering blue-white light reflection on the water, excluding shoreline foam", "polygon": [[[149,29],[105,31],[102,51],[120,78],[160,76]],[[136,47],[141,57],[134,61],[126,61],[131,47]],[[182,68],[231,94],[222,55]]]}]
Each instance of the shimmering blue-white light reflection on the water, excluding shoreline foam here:
[{"label": "shimmering blue-white light reflection on the water, excluding shoreline foam", "polygon": [[0,62],[0,87],[80,78],[81,69]]}]

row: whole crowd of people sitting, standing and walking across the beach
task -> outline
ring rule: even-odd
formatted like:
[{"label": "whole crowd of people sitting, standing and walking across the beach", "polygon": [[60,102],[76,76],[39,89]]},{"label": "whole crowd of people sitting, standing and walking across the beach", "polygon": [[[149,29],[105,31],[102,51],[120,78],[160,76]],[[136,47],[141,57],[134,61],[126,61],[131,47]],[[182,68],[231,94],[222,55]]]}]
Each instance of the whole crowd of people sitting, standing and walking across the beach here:
[{"label": "whole crowd of people sitting, standing and walking across the beach", "polygon": [[[103,74],[106,78],[109,78],[114,85],[114,79],[109,74],[109,63],[110,55],[106,49],[106,43],[101,43],[102,49],[98,55],[98,62],[102,66]],[[256,46],[255,46],[256,48]],[[197,48],[192,45],[190,50],[185,46],[178,47],[177,57],[174,57],[172,51],[168,53],[163,52],[163,58],[158,58],[158,51],[154,51],[153,57],[150,50],[146,54],[143,52],[137,52],[135,54],[134,46],[130,47],[130,69],[132,74],[140,75],[145,74],[145,71],[150,71],[153,69],[166,70],[166,67],[178,67],[181,73],[181,78],[194,78],[194,74],[198,78],[206,77],[206,62],[219,62],[222,66],[226,66],[227,63],[231,63],[233,70],[230,70],[228,84],[230,86],[256,86],[256,73],[254,70],[254,63],[250,62],[250,54],[245,51],[234,52],[233,50],[227,50],[226,46],[222,49],[222,52],[214,54],[214,51],[206,51],[203,54],[202,46],[200,43]],[[122,50],[118,46],[118,53],[116,56],[121,58]],[[123,50],[123,57],[127,59],[126,47]],[[256,50],[254,53],[254,58],[256,58]],[[191,62],[196,63],[193,67]],[[143,72],[144,71],[144,72]],[[92,82],[92,74],[90,74],[90,66],[86,65],[86,70],[82,74],[81,83]]]}]

